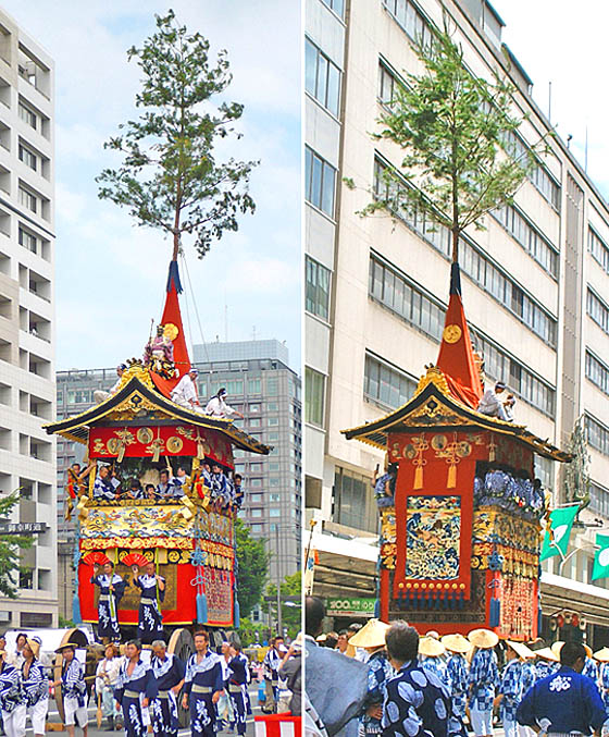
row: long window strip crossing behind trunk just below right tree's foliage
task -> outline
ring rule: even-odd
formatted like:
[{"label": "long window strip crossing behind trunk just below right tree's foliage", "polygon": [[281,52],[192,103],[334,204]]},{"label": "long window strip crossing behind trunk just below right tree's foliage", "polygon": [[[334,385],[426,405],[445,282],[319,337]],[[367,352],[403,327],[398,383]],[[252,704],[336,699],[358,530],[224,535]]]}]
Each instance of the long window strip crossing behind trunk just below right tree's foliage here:
[{"label": "long window strip crossing behind trunk just below right tree's foliage", "polygon": [[[399,207],[400,191],[408,184],[398,183],[389,185],[385,181],[384,172],[388,169],[378,159],[374,164],[374,191],[375,193],[396,202],[396,217],[400,217],[419,235],[431,243],[442,254],[450,253],[450,231],[445,225],[438,225],[423,212],[410,209],[405,212]],[[394,171],[399,177],[399,174]],[[389,187],[393,187],[391,189]],[[399,210],[399,211],[397,211]],[[459,243],[461,254],[461,269],[470,279],[477,282],[506,309],[515,315],[530,330],[544,340],[552,348],[556,348],[557,321],[524,290],[512,281],[506,272],[495,265],[488,256],[475,247],[469,239],[461,238]]]}]

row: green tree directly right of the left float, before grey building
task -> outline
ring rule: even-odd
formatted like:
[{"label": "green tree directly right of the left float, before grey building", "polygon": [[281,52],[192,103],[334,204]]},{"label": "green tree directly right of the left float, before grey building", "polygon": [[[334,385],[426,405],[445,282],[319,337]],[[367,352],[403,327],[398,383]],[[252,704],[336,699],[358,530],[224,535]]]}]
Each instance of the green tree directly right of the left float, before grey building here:
[{"label": "green tree directly right of the left float, before grey building", "polygon": [[266,576],[270,554],[266,541],[252,538],[249,529],[238,517],[235,519],[235,540],[237,545],[238,588],[237,599],[244,617],[260,602]]}]

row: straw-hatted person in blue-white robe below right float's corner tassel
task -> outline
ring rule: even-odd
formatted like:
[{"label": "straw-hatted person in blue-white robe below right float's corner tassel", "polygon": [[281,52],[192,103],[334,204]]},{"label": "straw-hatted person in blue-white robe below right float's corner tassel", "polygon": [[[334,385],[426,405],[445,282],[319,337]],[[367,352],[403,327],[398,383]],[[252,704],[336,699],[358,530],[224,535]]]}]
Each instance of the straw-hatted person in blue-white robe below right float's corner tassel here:
[{"label": "straw-hatted person in blue-white robe below right float's corner tassel", "polygon": [[475,737],[493,735],[493,701],[499,685],[494,648],[499,641],[490,629],[474,629],[468,635],[474,646],[470,666],[470,716]]}]

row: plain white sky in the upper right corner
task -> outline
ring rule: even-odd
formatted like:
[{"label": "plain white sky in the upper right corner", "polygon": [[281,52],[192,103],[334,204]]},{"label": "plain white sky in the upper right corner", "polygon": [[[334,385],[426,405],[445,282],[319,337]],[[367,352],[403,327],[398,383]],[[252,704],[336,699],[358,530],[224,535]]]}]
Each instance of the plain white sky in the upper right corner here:
[{"label": "plain white sky in the upper right corner", "polygon": [[609,5],[587,0],[493,0],[506,27],[502,40],[533,79],[533,98],[548,114],[551,82],[551,122],[605,199],[609,198],[609,139],[607,138],[607,23]]}]

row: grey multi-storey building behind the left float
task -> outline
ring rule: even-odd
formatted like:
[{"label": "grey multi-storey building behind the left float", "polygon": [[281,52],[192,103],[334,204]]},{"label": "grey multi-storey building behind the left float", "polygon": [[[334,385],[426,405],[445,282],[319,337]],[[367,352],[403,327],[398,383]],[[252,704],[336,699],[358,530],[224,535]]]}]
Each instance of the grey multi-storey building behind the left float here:
[{"label": "grey multi-storey building behind the left float", "polygon": [[[278,341],[243,341],[195,345],[192,363],[199,369],[199,397],[207,402],[221,386],[227,401],[245,415],[237,422],[262,442],[273,445],[269,456],[235,452],[235,468],[244,476],[246,490],[241,517],[254,537],[269,541],[272,553],[270,580],[283,579],[300,567],[301,544],[301,398],[300,379],[289,368],[286,346]],[[84,412],[94,391],[109,390],[116,370],[59,371],[58,417]],[[74,540],[73,523],[63,519],[64,486],[70,465],[80,462],[84,446],[58,439],[58,529],[65,570],[70,569]],[[72,581],[67,581],[70,589]],[[71,593],[63,597],[70,616]]]}]

